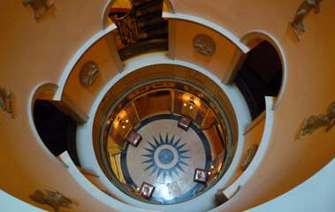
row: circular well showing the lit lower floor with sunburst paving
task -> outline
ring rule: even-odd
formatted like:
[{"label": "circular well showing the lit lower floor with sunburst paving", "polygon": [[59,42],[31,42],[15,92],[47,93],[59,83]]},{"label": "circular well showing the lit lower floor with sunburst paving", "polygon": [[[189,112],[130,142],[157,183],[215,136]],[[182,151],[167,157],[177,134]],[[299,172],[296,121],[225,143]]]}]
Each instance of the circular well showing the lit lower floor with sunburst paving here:
[{"label": "circular well showing the lit lower floor with sunburst paving", "polygon": [[[141,76],[141,71],[132,74]],[[154,204],[178,203],[204,193],[223,176],[236,145],[225,110],[209,91],[185,80],[158,78],[119,96],[109,107],[104,99],[110,95],[105,95],[99,108],[109,109],[103,121],[95,118],[103,122],[95,131],[101,132],[102,168],[121,191]],[[202,170],[201,180],[195,170]],[[143,183],[152,186],[148,198],[141,198]]]}]

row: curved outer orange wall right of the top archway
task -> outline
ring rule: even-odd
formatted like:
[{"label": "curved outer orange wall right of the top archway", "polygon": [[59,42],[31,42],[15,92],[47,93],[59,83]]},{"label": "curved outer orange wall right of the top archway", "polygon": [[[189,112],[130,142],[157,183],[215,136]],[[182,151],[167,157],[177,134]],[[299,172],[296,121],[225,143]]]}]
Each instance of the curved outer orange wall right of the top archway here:
[{"label": "curved outer orange wall right of the top archway", "polygon": [[[335,101],[333,2],[323,1],[321,12],[304,18],[307,32],[298,42],[288,24],[301,1],[174,1],[176,11],[209,19],[237,37],[251,30],[271,34],[284,50],[287,84],[274,111],[270,146],[255,175],[242,187],[227,210],[254,207],[287,192],[311,177],[335,156],[335,131],[325,128],[298,140],[305,117],[325,113]],[[189,5],[192,5],[189,6]]]}]

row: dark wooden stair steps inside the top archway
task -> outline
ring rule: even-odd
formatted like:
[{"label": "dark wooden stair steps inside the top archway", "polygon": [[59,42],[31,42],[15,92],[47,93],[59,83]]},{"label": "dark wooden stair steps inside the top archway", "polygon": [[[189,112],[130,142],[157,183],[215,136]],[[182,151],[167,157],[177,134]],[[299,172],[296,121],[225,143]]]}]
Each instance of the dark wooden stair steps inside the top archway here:
[{"label": "dark wooden stair steps inside the top archway", "polygon": [[[136,40],[126,38],[124,41],[130,42],[120,43],[117,32],[114,32],[121,61],[148,52],[168,50],[168,21],[162,18],[162,11],[163,0],[133,0],[133,11],[127,19],[131,23],[130,19],[135,18],[136,25],[128,28],[134,30],[133,26],[137,26]],[[113,15],[110,13],[110,17]]]}]

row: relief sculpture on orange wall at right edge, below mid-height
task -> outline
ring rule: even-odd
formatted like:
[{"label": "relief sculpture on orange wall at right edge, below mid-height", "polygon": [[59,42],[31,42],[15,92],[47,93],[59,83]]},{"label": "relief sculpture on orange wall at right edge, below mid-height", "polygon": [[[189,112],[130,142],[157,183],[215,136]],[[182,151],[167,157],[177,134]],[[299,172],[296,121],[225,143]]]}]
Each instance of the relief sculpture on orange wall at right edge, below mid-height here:
[{"label": "relief sculpture on orange wall at right edge, below mid-height", "polygon": [[335,102],[332,102],[328,107],[327,113],[320,114],[317,117],[315,115],[307,117],[305,119],[305,123],[302,126],[299,138],[301,139],[301,137],[307,133],[314,133],[321,126],[325,126],[325,132],[328,132],[335,124],[335,120],[333,119],[335,119]]}]

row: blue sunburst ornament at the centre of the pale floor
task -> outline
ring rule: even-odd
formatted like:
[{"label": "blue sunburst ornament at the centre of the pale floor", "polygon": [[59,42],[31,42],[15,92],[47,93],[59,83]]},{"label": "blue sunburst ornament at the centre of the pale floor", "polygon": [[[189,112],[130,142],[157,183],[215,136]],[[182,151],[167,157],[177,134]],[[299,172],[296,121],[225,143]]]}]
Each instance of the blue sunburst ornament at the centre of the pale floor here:
[{"label": "blue sunburst ornament at the centre of the pale floor", "polygon": [[182,150],[186,143],[179,145],[181,138],[174,142],[174,135],[172,136],[171,140],[169,140],[168,133],[166,133],[165,140],[163,140],[161,134],[159,134],[159,141],[156,140],[155,137],[153,137],[153,139],[155,140],[155,144],[148,141],[148,144],[151,148],[144,148],[148,151],[149,154],[142,155],[149,158],[148,160],[142,162],[150,163],[145,170],[153,168],[153,170],[151,170],[150,176],[152,176],[158,170],[156,178],[158,178],[163,173],[164,181],[168,173],[172,179],[172,171],[176,176],[179,177],[177,170],[185,172],[181,165],[188,166],[188,164],[183,160],[190,158],[184,155],[189,150]]}]

